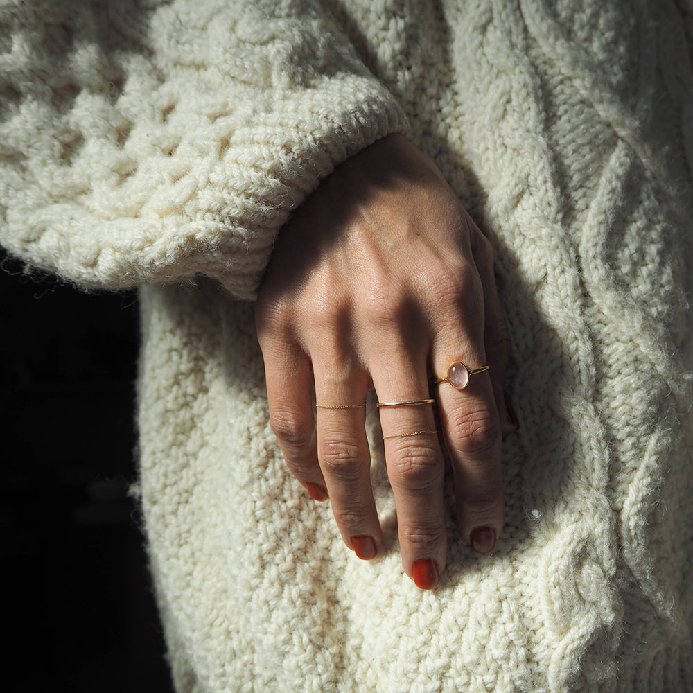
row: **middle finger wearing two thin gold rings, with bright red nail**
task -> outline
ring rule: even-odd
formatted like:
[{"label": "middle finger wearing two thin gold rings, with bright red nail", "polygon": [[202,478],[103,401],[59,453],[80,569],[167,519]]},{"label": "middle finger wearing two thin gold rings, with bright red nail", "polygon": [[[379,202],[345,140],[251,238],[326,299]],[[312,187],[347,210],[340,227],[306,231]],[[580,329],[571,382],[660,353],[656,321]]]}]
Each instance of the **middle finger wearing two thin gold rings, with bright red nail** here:
[{"label": "middle finger wearing two thin gold rings, with bright red nail", "polygon": [[[387,351],[385,353],[388,353]],[[403,349],[390,354],[405,353]],[[381,403],[428,398],[426,358],[383,360],[371,369]],[[402,564],[423,589],[435,587],[446,562],[444,463],[432,404],[380,408],[387,474],[396,507]]]}]

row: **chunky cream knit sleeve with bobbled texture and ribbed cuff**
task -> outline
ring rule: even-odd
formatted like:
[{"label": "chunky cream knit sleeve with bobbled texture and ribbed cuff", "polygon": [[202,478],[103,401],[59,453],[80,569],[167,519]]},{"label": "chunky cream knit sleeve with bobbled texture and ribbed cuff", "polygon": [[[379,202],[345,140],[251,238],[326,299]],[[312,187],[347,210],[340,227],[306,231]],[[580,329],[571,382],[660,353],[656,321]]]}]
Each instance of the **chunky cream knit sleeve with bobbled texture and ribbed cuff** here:
[{"label": "chunky cream knit sleeve with bobbled texture and ribbed cuff", "polygon": [[252,298],[290,211],[404,129],[320,0],[0,8],[0,241],[87,288]]}]

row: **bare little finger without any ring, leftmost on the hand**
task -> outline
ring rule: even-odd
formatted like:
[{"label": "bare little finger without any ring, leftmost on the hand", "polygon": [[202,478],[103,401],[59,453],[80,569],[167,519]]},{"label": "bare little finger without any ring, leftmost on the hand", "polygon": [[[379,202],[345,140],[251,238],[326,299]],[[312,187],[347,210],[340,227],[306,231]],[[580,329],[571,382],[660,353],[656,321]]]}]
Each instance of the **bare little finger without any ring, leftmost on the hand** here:
[{"label": "bare little finger without any ring, leftmost on the hand", "polygon": [[314,500],[327,500],[317,459],[313,373],[306,353],[289,339],[261,340],[270,426],[291,473]]}]

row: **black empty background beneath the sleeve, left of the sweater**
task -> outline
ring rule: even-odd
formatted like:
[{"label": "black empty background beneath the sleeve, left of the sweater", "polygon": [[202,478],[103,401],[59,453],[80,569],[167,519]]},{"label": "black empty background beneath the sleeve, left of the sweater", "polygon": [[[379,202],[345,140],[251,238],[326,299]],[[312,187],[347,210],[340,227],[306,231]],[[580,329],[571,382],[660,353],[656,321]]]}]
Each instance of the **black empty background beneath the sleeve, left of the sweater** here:
[{"label": "black empty background beneath the sleeve, left of the sweater", "polygon": [[3,689],[169,693],[128,495],[137,294],[28,277],[1,251],[0,267]]}]

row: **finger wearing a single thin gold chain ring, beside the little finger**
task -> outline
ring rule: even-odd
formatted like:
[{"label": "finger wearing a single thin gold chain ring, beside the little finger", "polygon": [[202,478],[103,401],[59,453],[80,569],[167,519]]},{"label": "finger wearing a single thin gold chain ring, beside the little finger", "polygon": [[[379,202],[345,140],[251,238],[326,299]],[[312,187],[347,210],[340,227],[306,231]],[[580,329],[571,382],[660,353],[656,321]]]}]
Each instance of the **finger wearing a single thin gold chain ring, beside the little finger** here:
[{"label": "finger wearing a single thin gold chain ring, beside the little finger", "polygon": [[376,556],[383,534],[371,490],[365,430],[368,376],[349,356],[313,356],[317,450],[344,543],[360,559]]}]

